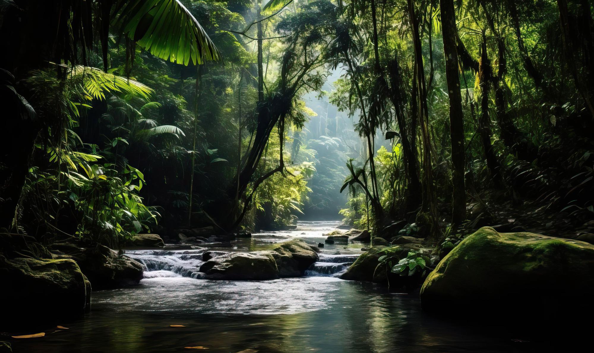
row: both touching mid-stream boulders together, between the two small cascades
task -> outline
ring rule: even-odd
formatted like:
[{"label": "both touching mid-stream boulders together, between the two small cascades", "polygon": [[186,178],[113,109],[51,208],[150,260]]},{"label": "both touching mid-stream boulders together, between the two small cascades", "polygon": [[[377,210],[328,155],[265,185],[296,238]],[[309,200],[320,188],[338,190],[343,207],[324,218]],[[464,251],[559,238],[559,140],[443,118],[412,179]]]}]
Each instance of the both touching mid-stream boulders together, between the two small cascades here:
[{"label": "both touching mid-stream boulders together, between the two small cascades", "polygon": [[207,261],[200,267],[200,272],[211,280],[299,277],[317,261],[318,254],[314,249],[302,239],[292,239],[264,251],[207,252],[203,255]]}]

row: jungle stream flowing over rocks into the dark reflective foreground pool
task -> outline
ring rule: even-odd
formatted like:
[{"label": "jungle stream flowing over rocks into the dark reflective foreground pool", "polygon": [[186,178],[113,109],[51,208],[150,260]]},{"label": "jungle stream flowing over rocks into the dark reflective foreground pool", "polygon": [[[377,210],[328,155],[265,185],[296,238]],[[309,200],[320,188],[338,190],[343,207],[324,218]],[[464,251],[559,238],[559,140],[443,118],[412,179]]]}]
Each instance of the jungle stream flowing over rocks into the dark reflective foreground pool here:
[{"label": "jungle stream flowing over rocks into the dark reflective foreground pool", "polygon": [[[326,245],[305,277],[201,279],[202,253],[254,251],[300,237],[312,245],[340,222],[299,222],[230,243],[127,251],[146,266],[140,285],[93,293],[82,320],[43,338],[12,340],[14,352],[477,352],[535,346],[497,327],[462,325],[422,312],[418,294],[388,293],[337,276],[362,243]],[[170,325],[183,325],[172,327]],[[249,350],[251,349],[251,351]]]}]

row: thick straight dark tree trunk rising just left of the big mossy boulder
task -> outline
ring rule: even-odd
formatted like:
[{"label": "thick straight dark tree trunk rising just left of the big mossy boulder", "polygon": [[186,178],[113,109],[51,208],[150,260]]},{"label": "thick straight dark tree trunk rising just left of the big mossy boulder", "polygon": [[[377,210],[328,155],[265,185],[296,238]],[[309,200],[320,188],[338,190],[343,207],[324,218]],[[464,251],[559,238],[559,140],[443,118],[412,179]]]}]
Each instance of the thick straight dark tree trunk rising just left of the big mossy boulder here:
[{"label": "thick straight dark tree trunk rising just left of the big mossy boulder", "polygon": [[456,50],[456,14],[453,0],[440,0],[441,23],[445,55],[445,76],[450,98],[450,139],[452,184],[452,224],[461,224],[466,219],[466,189],[464,186],[464,114],[460,77],[458,74],[458,53]]}]

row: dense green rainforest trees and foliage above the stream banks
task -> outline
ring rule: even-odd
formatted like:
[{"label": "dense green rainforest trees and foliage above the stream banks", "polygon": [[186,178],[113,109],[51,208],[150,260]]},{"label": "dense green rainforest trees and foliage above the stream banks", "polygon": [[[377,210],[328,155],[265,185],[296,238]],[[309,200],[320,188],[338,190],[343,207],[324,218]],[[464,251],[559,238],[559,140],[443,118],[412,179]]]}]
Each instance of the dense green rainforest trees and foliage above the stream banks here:
[{"label": "dense green rainforest trees and foliage above the stream banks", "polygon": [[405,219],[437,240],[476,204],[594,213],[589,1],[1,11],[14,56],[0,62],[0,226],[15,232],[113,245],[342,208],[357,227]]}]

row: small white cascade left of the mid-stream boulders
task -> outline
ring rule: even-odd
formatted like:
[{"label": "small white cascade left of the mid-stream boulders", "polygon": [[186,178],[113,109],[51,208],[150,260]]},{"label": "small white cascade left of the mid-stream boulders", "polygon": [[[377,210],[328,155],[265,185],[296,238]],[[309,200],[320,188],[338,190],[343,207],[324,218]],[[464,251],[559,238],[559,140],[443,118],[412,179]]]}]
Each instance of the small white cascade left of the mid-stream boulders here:
[{"label": "small white cascade left of the mid-stream boulders", "polygon": [[144,278],[192,277],[201,278],[198,272],[205,249],[195,250],[134,250],[126,255],[144,265]]}]

